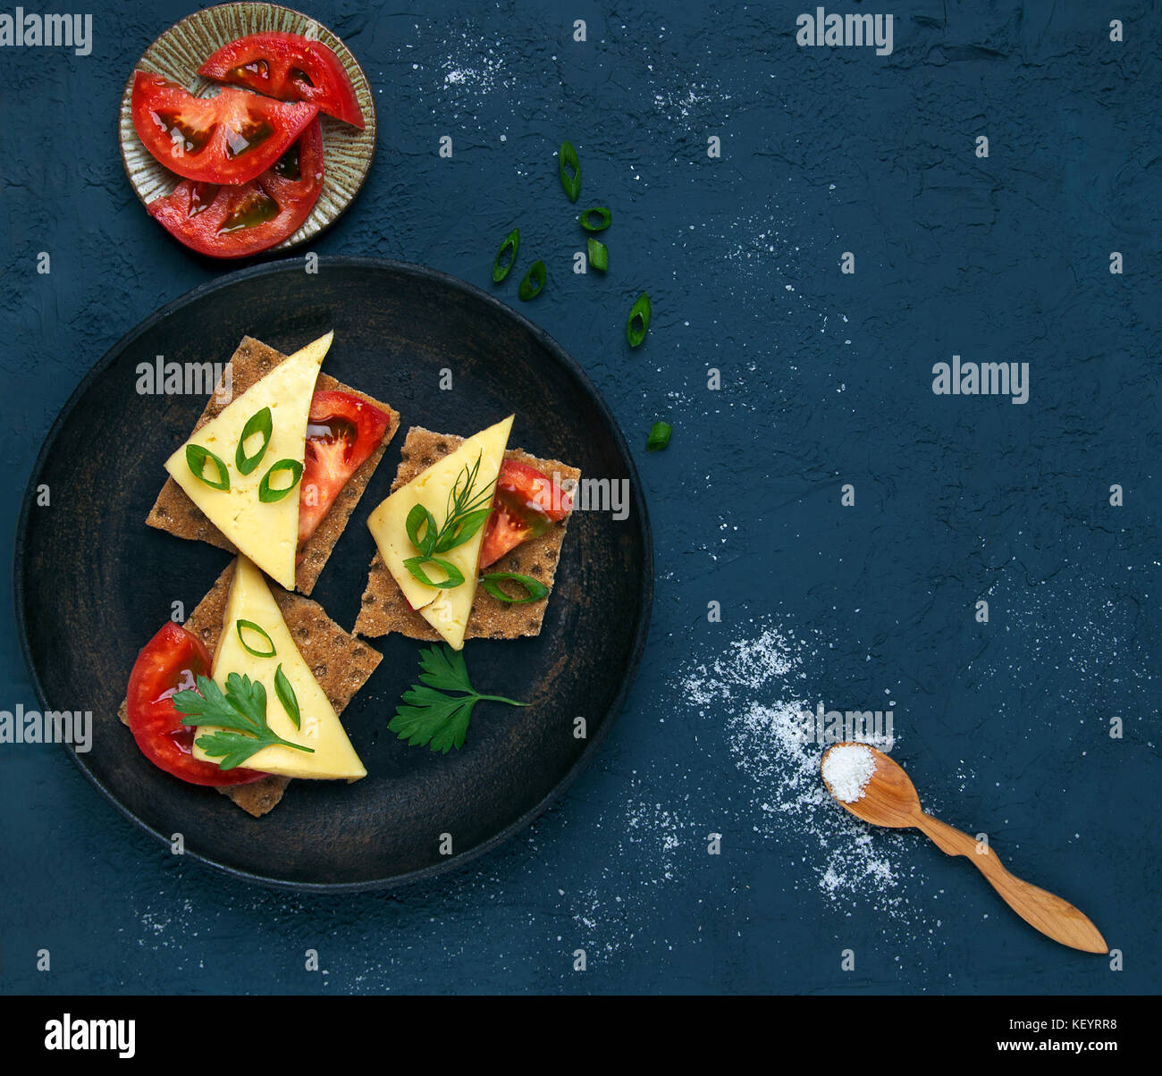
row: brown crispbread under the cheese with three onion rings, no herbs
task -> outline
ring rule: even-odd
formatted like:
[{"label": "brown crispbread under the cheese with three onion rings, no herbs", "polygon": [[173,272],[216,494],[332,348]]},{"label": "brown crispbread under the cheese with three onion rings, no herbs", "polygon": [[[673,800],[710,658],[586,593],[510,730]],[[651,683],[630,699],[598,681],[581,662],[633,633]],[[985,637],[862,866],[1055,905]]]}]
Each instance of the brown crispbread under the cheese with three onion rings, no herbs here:
[{"label": "brown crispbread under the cheese with three onion rings, no herbs", "polygon": [[[234,358],[230,359],[229,365],[223,371],[222,380],[218,382],[214,395],[210,396],[209,402],[206,404],[206,410],[202,411],[201,418],[198,419],[194,432],[200,430],[211,418],[215,418],[232,399],[246,392],[248,388],[274,370],[285,358],[285,354],[275,351],[273,347],[268,347],[260,340],[244,336],[242,343],[238,344],[238,350],[234,353]],[[230,385],[230,394],[218,390],[224,385]],[[366,400],[372,407],[385,411],[388,416],[388,423],[387,432],[385,432],[380,446],[351,475],[339,492],[339,495],[335,498],[330,511],[323,517],[317,530],[310,536],[302,548],[302,559],[295,568],[294,581],[295,589],[301,590],[303,594],[310,594],[315,588],[315,582],[323,571],[327,559],[331,555],[335,543],[339,540],[339,536],[347,525],[351,512],[354,511],[359,498],[371,481],[371,476],[379,466],[379,461],[383,458],[388,442],[400,428],[400,415],[397,411],[394,411],[388,404],[368,396],[366,393],[336,381],[329,374],[321,373],[318,375],[315,389],[316,392],[338,389],[359,396],[360,400]],[[165,485],[162,487],[162,492],[158,494],[157,501],[155,501],[153,508],[150,510],[149,516],[146,516],[145,522],[150,526],[167,531],[178,538],[208,541],[210,545],[216,545],[230,553],[238,552],[234,544],[206,518],[202,510],[189,500],[186,492],[172,478],[166,478]]]}]

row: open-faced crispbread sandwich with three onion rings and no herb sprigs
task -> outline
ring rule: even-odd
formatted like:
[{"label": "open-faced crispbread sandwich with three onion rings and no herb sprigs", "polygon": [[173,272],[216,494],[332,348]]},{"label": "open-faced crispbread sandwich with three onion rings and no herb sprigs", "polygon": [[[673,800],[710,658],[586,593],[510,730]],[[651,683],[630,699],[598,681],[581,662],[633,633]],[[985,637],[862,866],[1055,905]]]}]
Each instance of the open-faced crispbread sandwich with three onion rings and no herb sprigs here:
[{"label": "open-faced crispbread sandwich with three onion rings and no herb sprigs", "polygon": [[241,552],[310,594],[400,416],[320,372],[332,333],[284,356],[244,337],[146,523]]}]

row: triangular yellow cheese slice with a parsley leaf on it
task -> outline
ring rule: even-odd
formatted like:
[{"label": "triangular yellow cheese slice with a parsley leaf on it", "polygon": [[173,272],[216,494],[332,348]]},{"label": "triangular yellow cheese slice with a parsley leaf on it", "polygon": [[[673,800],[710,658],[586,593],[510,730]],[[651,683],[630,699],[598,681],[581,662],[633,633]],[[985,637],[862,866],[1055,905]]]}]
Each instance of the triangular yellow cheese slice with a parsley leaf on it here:
[{"label": "triangular yellow cheese slice with a parsley leaf on it", "polygon": [[[274,654],[270,658],[259,658],[250,653],[238,636],[238,621],[258,624],[271,637]],[[243,637],[252,650],[270,650],[266,640],[250,627],[243,629]],[[274,673],[279,666],[282,667],[282,675],[290,681],[299,702],[300,727],[297,729],[274,689]],[[302,654],[299,653],[299,647],[290,637],[290,631],[282,619],[271,588],[266,586],[263,573],[245,557],[239,557],[235,562],[234,580],[230,583],[230,595],[222,621],[222,637],[214,654],[214,682],[223,691],[230,673],[259,681],[266,689],[266,723],[274,733],[292,744],[314,748],[314,753],[310,754],[281,745],[264,747],[246,761],[248,769],[281,774],[285,777],[320,780],[354,781],[367,775],[343,730],[335,708],[318,686]],[[210,725],[198,727],[194,737],[194,758],[217,763],[217,759],[209,758],[196,744],[198,737],[213,734],[216,731],[217,729]]]}]

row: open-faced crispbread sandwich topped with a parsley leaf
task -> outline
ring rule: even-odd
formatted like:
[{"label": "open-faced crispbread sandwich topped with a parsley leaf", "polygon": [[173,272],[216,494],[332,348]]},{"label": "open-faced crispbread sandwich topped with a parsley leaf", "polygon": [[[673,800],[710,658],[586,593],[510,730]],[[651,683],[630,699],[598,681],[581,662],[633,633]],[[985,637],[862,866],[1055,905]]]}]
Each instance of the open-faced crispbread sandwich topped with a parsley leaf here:
[{"label": "open-faced crispbread sandwich topped with a parsley leaf", "polygon": [[317,602],[239,557],[184,625],[145,645],[120,716],[162,769],[258,817],[293,777],[366,775],[339,713],[379,662]]}]

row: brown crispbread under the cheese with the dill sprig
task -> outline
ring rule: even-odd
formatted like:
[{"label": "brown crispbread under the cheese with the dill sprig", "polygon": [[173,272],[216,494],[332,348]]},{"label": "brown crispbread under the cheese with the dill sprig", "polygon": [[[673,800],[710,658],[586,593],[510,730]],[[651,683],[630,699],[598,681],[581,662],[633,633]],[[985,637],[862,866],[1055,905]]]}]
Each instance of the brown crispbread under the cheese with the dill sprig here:
[{"label": "brown crispbread under the cheese with the dill sprig", "polygon": [[[395,473],[392,493],[406,486],[417,474],[425,471],[438,459],[454,452],[462,437],[452,433],[433,433],[422,426],[413,426],[403,443],[400,469]],[[574,482],[581,478],[576,467],[554,459],[537,459],[521,449],[509,449],[505,459],[519,460],[530,467],[536,467],[541,474],[566,479]],[[568,516],[561,523],[550,528],[544,535],[522,543],[510,553],[505,553],[489,572],[517,572],[539,580],[552,590],[557,575],[557,565],[561,558],[561,544],[565,541],[565,529]],[[540,634],[540,624],[548,604],[548,595],[539,602],[514,604],[493,597],[483,587],[476,588],[472,603],[472,614],[464,633],[466,639],[516,639],[521,636]],[[392,579],[379,553],[371,562],[371,575],[367,589],[364,591],[359,617],[356,621],[357,636],[378,637],[393,631],[409,639],[439,639],[440,636],[418,612],[408,605],[399,583]]]}]

